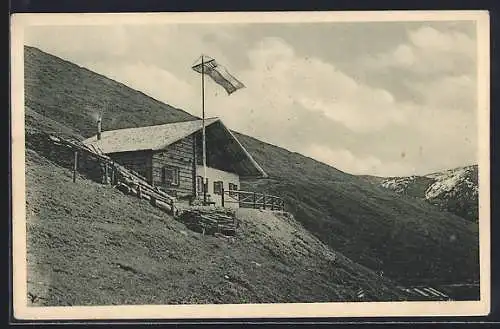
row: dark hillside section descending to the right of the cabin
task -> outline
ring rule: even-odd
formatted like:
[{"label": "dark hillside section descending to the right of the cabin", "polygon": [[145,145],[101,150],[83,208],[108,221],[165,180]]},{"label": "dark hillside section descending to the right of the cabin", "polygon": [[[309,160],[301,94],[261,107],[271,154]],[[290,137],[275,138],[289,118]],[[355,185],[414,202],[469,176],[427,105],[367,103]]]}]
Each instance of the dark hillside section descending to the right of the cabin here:
[{"label": "dark hillside section descending to the right of the cabin", "polygon": [[243,187],[283,195],[306,228],[347,257],[401,282],[477,278],[477,225],[300,154],[239,139],[273,178]]}]

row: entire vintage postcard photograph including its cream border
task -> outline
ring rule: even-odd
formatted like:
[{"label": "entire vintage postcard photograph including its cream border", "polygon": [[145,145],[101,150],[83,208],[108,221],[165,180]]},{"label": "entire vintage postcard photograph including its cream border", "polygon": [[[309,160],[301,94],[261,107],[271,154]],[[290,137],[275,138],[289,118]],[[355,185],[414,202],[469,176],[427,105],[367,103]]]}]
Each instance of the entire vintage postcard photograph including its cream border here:
[{"label": "entire vintage postcard photograph including its cream border", "polygon": [[11,28],[16,317],[488,314],[487,12]]}]

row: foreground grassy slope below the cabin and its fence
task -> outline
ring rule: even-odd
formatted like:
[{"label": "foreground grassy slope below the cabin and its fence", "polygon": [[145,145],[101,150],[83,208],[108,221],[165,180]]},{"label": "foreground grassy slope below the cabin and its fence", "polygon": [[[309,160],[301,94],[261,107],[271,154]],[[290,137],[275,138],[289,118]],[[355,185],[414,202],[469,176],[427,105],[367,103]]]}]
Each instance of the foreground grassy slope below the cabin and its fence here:
[{"label": "foreground grassy slope below the cabin and its fence", "polygon": [[233,242],[189,231],[146,201],[32,149],[28,291],[38,305],[313,302],[401,297],[292,219],[243,210]]}]

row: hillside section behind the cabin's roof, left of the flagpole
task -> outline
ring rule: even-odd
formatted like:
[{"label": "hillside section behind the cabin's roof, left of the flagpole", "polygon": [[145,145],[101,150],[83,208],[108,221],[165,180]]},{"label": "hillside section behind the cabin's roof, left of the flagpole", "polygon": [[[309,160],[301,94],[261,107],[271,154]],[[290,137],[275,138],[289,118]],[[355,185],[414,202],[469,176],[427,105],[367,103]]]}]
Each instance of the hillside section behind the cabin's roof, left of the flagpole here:
[{"label": "hillside section behind the cabin's roof, left of the flagpole", "polygon": [[103,130],[193,118],[121,83],[32,47],[25,48],[25,81],[27,107],[83,136],[95,134],[92,114],[106,102]]}]

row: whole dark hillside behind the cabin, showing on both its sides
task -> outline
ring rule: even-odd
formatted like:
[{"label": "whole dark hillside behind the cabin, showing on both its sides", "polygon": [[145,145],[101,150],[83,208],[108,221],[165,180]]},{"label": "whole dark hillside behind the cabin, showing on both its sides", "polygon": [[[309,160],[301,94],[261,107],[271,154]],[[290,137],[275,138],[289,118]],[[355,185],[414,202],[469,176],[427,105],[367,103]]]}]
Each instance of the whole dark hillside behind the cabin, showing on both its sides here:
[{"label": "whole dark hillside behind the cabin, showing on both its sides", "polygon": [[[94,122],[86,104],[104,99],[111,99],[114,108],[108,111],[112,116],[103,120],[103,129],[190,117],[39,50],[26,48],[25,61],[27,104],[62,123],[57,129],[69,127],[85,137],[92,135]],[[239,138],[271,175],[244,187],[285,196],[305,227],[356,262],[401,281],[478,278],[477,226],[300,154],[251,137]]]}]

